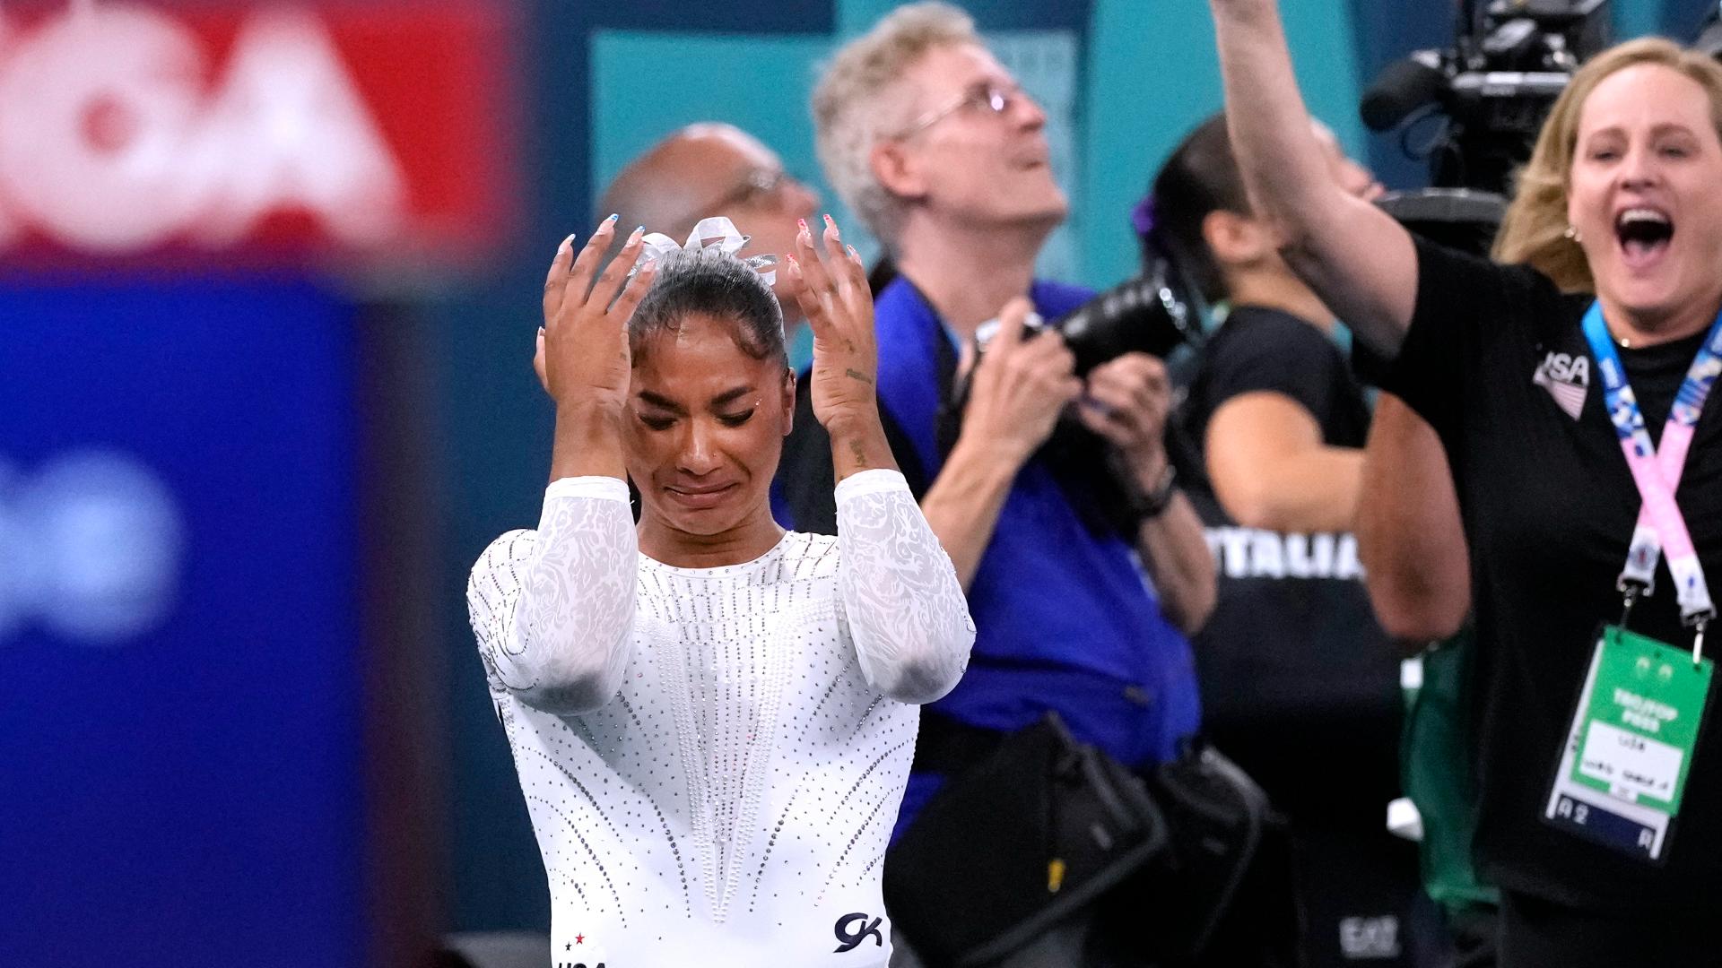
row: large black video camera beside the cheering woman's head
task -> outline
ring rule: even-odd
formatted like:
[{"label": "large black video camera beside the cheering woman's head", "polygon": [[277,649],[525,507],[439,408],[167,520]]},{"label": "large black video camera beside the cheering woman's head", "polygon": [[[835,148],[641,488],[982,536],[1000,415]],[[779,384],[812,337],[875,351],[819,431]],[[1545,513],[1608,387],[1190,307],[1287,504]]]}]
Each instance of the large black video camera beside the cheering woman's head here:
[{"label": "large black video camera beside the cheering woman's head", "polygon": [[1457,34],[1446,50],[1381,71],[1364,95],[1364,124],[1391,131],[1445,115],[1428,148],[1431,184],[1507,193],[1555,98],[1608,45],[1608,0],[1462,0]]}]

